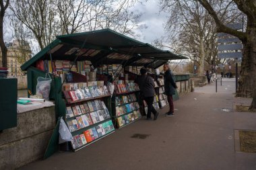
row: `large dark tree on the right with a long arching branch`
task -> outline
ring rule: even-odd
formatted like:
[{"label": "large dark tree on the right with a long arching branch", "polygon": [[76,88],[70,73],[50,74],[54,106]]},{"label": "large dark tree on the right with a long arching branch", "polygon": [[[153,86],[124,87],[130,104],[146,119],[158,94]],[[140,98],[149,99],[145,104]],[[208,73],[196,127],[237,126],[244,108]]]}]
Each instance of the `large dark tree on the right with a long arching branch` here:
[{"label": "large dark tree on the right with a long arching branch", "polygon": [[198,0],[199,3],[210,13],[216,22],[216,31],[224,32],[238,37],[243,42],[243,58],[241,65],[241,78],[238,81],[238,97],[252,97],[251,109],[256,109],[256,2],[252,0],[233,0],[237,10],[247,16],[245,32],[238,32],[228,28],[220,19],[212,4],[206,0]]}]

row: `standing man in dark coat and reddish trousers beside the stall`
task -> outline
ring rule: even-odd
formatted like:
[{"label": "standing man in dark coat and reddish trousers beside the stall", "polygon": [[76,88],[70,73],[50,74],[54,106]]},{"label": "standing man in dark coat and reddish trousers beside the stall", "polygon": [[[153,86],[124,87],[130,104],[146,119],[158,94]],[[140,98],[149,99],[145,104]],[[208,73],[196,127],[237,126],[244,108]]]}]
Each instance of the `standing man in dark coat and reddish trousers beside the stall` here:
[{"label": "standing man in dark coat and reddish trousers beside the stall", "polygon": [[168,63],[164,64],[164,94],[167,95],[167,101],[169,103],[170,110],[166,113],[166,116],[174,116],[174,105],[172,100],[172,95],[175,94],[175,89],[177,89],[176,82],[174,81],[174,75],[170,71],[170,65]]}]

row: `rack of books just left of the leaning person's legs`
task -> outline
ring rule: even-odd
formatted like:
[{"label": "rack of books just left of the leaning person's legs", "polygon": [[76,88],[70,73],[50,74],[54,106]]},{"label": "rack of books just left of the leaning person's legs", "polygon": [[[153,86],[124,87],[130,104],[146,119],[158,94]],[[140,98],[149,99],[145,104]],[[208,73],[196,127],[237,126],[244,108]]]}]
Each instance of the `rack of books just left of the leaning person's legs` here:
[{"label": "rack of books just left of the leaning person's legs", "polygon": [[139,87],[136,83],[115,81],[115,93],[113,95],[113,113],[117,128],[122,128],[141,118],[137,95]]}]

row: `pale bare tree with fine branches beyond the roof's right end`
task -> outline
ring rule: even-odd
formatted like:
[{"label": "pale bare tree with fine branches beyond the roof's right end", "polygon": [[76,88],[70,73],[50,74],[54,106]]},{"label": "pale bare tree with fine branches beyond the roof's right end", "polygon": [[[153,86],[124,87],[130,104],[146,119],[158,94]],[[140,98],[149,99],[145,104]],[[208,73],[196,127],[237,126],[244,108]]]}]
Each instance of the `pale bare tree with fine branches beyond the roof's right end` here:
[{"label": "pale bare tree with fine branches beyond the roof's right end", "polygon": [[[170,13],[165,25],[168,35],[166,42],[172,44],[172,48],[175,48],[178,53],[187,54],[191,60],[197,62],[200,75],[203,74],[205,61],[210,65],[220,62],[216,58],[216,24],[199,2],[180,0],[160,2],[162,9]],[[232,3],[228,3],[226,7],[222,7],[222,3],[218,1],[212,1],[212,3],[225,22],[231,22],[239,15],[239,13],[234,13],[232,17],[227,15],[227,11],[233,9]]]}]

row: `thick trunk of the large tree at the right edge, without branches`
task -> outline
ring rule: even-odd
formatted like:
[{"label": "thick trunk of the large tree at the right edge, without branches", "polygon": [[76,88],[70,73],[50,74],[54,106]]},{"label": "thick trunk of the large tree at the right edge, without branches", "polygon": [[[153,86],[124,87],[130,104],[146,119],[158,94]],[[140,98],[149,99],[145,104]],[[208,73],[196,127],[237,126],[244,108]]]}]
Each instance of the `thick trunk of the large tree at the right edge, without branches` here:
[{"label": "thick trunk of the large tree at the right edge, without branches", "polygon": [[256,29],[255,23],[247,25],[247,40],[243,42],[241,78],[238,81],[236,97],[253,97],[251,109],[256,109]]}]

